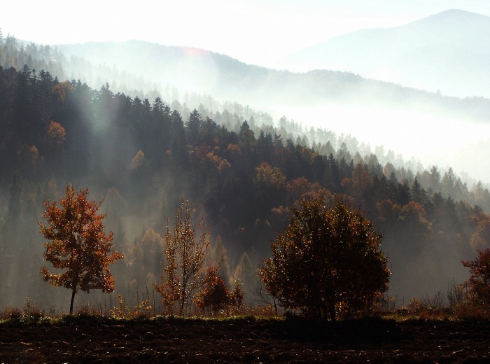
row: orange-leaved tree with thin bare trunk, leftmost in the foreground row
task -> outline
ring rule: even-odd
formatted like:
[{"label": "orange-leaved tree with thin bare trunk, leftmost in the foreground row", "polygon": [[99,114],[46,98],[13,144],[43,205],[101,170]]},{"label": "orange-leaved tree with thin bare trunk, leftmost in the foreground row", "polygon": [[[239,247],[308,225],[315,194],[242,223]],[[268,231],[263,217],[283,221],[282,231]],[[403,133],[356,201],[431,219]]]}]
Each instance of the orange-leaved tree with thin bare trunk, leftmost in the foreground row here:
[{"label": "orange-leaved tree with thin bare trunk, leftmost in the foreground row", "polygon": [[48,242],[43,243],[44,259],[61,273],[51,273],[41,268],[44,281],[53,286],[71,289],[70,314],[73,300],[81,289],[102,289],[104,293],[114,290],[115,280],[108,266],[123,255],[113,251],[113,233],[104,232],[102,220],[105,214],[97,214],[102,202],[87,200],[88,189],[76,191],[67,185],[64,197],[57,202],[45,201],[43,218],[48,225],[38,223],[40,233]]}]

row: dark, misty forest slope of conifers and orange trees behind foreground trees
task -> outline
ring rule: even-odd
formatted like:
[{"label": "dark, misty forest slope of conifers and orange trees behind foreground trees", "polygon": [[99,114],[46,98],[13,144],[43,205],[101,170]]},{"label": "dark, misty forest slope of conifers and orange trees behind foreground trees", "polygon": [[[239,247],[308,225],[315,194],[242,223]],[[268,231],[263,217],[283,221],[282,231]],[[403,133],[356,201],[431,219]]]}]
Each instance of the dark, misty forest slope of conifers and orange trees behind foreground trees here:
[{"label": "dark, misty forest slope of conifers and orange trees behind foreground trees", "polygon": [[412,170],[380,148],[354,151],[355,140],[321,130],[301,137],[286,118],[273,127],[267,118],[130,97],[107,84],[94,90],[59,78],[62,69],[47,60],[55,51],[31,48],[0,36],[1,307],[22,306],[27,296],[44,307],[66,302],[39,274],[37,225],[43,201],[59,198],[66,183],[105,199],[106,228],[125,256],[111,270],[126,297],[158,281],[165,221],[181,197],[204,217],[214,254],[228,251],[221,275],[241,279],[249,302],[288,207],[318,190],[348,195],[384,235],[399,300],[461,283],[461,260],[490,246],[489,190],[468,187],[452,169]]}]

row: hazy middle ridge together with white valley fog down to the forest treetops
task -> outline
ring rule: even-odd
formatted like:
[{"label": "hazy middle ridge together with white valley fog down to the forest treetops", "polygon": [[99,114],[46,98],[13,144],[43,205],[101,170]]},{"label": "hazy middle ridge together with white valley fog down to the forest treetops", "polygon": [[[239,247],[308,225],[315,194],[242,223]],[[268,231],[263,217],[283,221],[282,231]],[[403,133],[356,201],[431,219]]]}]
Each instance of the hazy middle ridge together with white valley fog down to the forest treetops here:
[{"label": "hazy middle ridge together with white valley fog down to the forest treetops", "polygon": [[[402,154],[405,160],[414,158],[426,166],[447,168],[450,159],[458,174],[490,181],[489,171],[468,162],[490,153],[489,99],[444,97],[350,72],[277,71],[206,50],[140,41],[59,47],[68,55],[83,57],[66,64],[67,73],[73,75],[70,79],[83,76],[95,88],[108,82],[133,97],[141,95],[142,90],[155,90],[150,99],[161,95],[169,102],[177,98],[182,102],[186,94],[211,95],[218,104],[239,102],[267,111],[275,120],[292,118],[305,130],[314,127],[350,134],[360,142],[384,146]],[[85,57],[91,67],[87,67],[89,61],[80,61]],[[98,62],[103,62],[102,68],[94,66]],[[84,67],[72,68],[79,64]],[[139,77],[130,79],[129,74]],[[464,82],[463,75],[452,70],[447,74]],[[128,90],[139,90],[129,86],[135,84],[135,79],[141,92]],[[121,89],[124,84],[127,87]],[[204,106],[218,109],[204,99]]]}]

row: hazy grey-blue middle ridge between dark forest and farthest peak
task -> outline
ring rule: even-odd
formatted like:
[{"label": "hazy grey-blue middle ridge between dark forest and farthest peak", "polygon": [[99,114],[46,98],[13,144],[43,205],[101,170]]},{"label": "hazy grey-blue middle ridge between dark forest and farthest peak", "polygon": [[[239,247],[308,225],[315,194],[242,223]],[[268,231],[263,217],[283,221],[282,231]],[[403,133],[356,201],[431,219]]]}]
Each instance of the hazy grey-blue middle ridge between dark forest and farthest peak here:
[{"label": "hazy grey-blue middle ridge between dark forest and farthest peak", "polygon": [[[490,117],[487,99],[442,97],[349,72],[277,71],[197,48],[127,41],[57,45],[57,49],[70,57],[72,64],[82,57],[94,64],[104,64],[107,69],[124,70],[151,80],[160,90],[176,87],[180,92],[211,94],[218,100],[238,101],[273,111],[341,103],[354,107],[408,108],[477,120]],[[74,79],[78,76],[75,69],[67,67],[66,72]],[[283,114],[279,112],[279,115]]]}]

